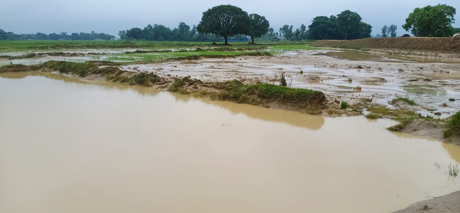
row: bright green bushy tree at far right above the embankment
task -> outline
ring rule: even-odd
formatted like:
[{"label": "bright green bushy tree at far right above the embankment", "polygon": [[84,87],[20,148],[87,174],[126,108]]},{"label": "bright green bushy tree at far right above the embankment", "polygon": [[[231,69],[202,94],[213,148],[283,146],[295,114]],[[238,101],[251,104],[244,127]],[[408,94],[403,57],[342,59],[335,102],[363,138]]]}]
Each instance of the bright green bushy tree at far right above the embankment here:
[{"label": "bright green bushy tree at far right above the embankment", "polygon": [[452,36],[455,8],[448,5],[415,8],[406,18],[403,28],[414,36],[445,37]]}]

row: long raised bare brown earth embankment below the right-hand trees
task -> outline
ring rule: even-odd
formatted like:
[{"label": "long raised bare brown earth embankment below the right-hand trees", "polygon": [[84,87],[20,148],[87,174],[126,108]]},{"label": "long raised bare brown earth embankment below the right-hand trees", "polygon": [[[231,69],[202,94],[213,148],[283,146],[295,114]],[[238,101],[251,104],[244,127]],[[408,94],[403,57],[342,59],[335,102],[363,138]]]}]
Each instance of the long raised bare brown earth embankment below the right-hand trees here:
[{"label": "long raised bare brown earth embankment below the right-hand trees", "polygon": [[313,42],[311,46],[353,50],[375,50],[398,55],[460,58],[460,37],[317,40]]}]

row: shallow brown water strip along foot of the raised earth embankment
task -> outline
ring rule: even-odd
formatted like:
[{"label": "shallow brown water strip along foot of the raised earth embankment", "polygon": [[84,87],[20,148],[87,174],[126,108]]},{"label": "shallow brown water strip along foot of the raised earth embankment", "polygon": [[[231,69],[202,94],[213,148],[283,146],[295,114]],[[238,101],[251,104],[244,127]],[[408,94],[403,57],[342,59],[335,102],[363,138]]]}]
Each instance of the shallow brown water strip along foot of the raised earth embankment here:
[{"label": "shallow brown water strip along foot of the raised earth embankment", "polygon": [[415,57],[391,55],[379,52],[368,52],[359,50],[340,50],[316,53],[317,56],[330,56],[337,59],[346,59],[351,61],[373,61],[373,62],[400,62],[400,63],[459,63],[454,59],[440,59],[432,57]]}]

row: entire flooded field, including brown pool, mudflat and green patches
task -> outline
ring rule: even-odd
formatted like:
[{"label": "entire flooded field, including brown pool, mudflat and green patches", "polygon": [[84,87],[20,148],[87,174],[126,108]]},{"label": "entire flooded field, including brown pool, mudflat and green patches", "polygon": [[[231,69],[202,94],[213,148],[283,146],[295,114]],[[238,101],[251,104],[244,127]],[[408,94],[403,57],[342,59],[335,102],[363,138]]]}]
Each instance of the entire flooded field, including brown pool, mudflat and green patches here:
[{"label": "entire flooded field, including brown pool, mudflat and green patches", "polygon": [[389,213],[460,190],[459,61],[130,43],[0,42],[0,206]]}]

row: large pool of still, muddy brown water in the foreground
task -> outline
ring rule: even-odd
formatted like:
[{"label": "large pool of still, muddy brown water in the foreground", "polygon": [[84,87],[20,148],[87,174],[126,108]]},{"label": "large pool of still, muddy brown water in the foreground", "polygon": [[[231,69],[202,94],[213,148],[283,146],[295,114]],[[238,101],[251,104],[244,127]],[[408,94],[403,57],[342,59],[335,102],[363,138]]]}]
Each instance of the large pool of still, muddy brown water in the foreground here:
[{"label": "large pool of still, muddy brown water in the foreground", "polygon": [[444,171],[460,146],[390,120],[52,73],[2,74],[0,91],[6,213],[389,213],[460,190]]}]

